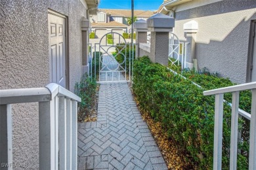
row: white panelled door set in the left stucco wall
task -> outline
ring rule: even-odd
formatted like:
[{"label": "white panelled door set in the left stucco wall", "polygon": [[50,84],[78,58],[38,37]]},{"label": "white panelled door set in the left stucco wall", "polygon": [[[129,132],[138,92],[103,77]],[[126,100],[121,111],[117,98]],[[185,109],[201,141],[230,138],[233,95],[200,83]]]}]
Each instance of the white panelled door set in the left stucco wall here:
[{"label": "white panelled door set in the left stucco wall", "polygon": [[66,88],[66,18],[48,14],[51,82]]}]

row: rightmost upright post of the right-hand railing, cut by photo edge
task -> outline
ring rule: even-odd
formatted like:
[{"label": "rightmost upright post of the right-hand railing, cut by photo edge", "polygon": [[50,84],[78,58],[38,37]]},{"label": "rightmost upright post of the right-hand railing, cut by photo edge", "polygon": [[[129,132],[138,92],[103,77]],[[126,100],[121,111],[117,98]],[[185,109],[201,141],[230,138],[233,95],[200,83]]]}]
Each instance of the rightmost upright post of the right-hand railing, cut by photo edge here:
[{"label": "rightmost upright post of the right-hand railing, cut by photo edge", "polygon": [[249,139],[249,169],[256,169],[256,89],[252,90]]}]

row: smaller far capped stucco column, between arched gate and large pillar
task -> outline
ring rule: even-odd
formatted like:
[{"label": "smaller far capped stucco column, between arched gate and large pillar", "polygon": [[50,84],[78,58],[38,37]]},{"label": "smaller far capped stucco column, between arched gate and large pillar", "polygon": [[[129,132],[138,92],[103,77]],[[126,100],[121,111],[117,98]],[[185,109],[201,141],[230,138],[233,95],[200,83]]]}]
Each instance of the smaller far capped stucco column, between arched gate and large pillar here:
[{"label": "smaller far capped stucco column, between arched gate and large pillar", "polygon": [[146,27],[146,20],[138,20],[137,22],[135,22],[133,24],[133,28],[136,31],[136,42],[137,42],[137,46],[136,46],[136,50],[135,50],[135,58],[141,56],[140,55],[140,49],[139,44],[140,43],[146,43],[147,42],[147,31],[148,28]]}]

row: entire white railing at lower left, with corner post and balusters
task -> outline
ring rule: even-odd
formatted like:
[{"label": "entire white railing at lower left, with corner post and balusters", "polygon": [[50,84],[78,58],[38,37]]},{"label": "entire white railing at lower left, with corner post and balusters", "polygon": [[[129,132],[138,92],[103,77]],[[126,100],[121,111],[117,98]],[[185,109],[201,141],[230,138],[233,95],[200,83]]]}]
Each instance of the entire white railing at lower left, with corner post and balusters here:
[{"label": "entire white railing at lower left, with corner post and balusters", "polygon": [[0,90],[0,162],[12,169],[11,105],[38,102],[39,169],[77,169],[80,101],[80,97],[54,83],[45,88]]}]

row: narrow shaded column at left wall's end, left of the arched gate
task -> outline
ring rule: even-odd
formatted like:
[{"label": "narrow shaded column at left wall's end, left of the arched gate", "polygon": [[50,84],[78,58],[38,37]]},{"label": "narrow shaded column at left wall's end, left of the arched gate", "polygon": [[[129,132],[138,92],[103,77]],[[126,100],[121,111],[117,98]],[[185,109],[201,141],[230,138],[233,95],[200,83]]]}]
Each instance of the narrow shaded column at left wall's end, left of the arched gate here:
[{"label": "narrow shaded column at left wall's end, left of the arched gate", "polygon": [[89,43],[89,27],[90,22],[87,18],[82,17],[81,20],[81,31],[82,31],[82,65],[83,74],[89,73],[89,59],[88,59],[88,43]]}]

